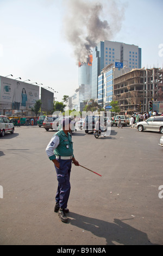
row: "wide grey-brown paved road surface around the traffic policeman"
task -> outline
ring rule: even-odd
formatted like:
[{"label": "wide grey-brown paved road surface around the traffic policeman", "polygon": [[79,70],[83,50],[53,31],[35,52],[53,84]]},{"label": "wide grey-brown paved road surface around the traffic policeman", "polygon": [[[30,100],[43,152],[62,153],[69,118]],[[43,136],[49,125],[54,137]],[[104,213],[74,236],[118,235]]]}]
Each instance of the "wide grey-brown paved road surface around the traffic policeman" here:
[{"label": "wide grey-brown paved road surface around the traffic policeman", "polygon": [[1,245],[162,245],[161,135],[112,127],[73,133],[68,223],[53,212],[57,179],[45,153],[54,131],[16,127],[0,138]]}]

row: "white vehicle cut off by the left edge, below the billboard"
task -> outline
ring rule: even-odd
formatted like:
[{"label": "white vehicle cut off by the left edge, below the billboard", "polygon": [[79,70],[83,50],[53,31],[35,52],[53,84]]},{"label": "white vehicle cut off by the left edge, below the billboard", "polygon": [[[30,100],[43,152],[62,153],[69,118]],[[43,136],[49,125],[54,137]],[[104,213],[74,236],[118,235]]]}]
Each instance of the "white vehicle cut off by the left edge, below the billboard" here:
[{"label": "white vehicle cut off by the left edge, below the billboard", "polygon": [[5,115],[0,115],[0,135],[3,137],[6,132],[14,133],[14,124]]}]

